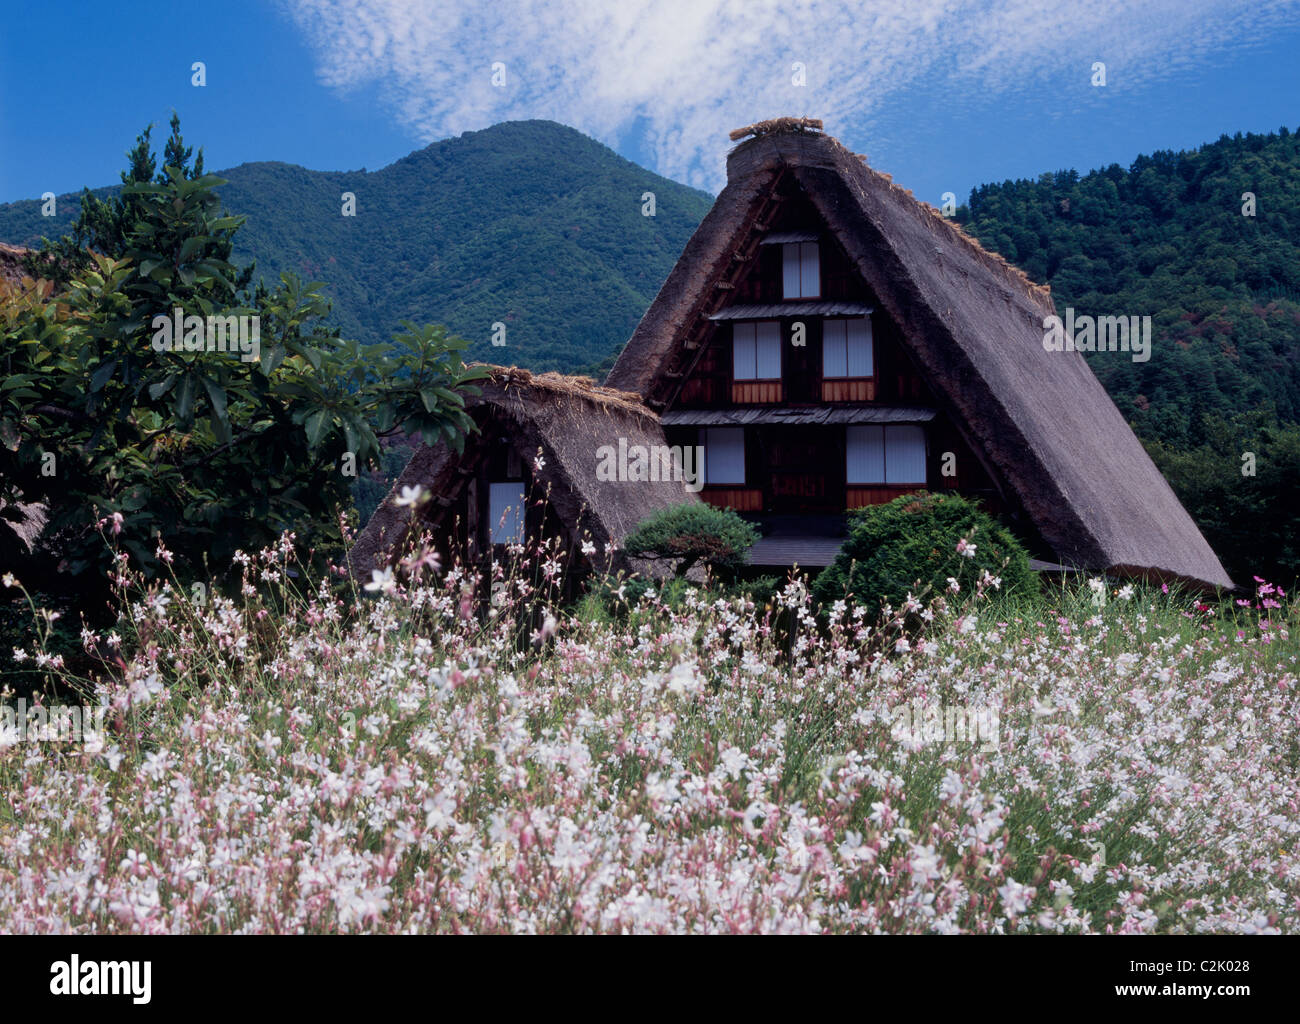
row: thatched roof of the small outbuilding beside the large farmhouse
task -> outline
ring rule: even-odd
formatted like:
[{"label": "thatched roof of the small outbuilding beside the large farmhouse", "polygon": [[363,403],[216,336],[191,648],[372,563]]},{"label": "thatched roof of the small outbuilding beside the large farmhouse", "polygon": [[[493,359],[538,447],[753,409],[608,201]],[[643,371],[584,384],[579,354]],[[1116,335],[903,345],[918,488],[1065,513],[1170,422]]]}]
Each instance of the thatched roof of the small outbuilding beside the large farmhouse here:
[{"label": "thatched roof of the small outbuilding beside the large farmhouse", "polygon": [[[533,480],[550,487],[549,504],[564,524],[569,543],[577,546],[589,535],[604,552],[611,542],[621,546],[623,538],[653,512],[698,500],[681,482],[597,480],[597,452],[602,446],[618,448],[620,438],[629,447],[667,444],[659,417],[636,395],[599,387],[588,377],[488,369],[490,378],[478,385],[481,396],[468,398],[465,407],[481,429],[494,424],[504,428]],[[467,457],[474,443],[474,437],[467,441]],[[533,461],[538,451],[541,469]],[[400,490],[422,486],[441,499],[425,507],[426,516],[436,513],[468,482],[469,477],[460,472],[463,461],[446,443],[416,450],[352,546],[348,557],[354,574],[368,578],[372,569],[387,564],[394,548],[406,543],[411,515],[394,503]],[[621,552],[615,555],[614,567],[658,572],[628,561]]]}]

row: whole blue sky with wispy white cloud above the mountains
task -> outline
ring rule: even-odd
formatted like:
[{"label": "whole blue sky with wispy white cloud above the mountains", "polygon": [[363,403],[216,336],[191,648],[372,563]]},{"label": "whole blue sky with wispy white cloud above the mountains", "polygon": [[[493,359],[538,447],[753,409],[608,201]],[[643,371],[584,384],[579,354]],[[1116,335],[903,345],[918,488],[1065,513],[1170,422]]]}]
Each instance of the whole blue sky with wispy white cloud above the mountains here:
[{"label": "whole blue sky with wispy white cloud above the mountains", "polygon": [[988,181],[1300,127],[1296,0],[66,6],[5,16],[0,201],[116,182],[135,134],[156,122],[165,136],[173,109],[209,169],[373,170],[546,117],[711,191],[729,129],[810,114],[936,205]]}]

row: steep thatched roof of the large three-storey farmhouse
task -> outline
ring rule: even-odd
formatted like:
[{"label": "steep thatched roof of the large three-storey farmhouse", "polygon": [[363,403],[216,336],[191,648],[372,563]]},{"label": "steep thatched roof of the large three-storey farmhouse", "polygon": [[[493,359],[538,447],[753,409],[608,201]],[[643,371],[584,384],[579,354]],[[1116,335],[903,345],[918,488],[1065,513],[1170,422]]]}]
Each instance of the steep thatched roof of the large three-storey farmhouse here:
[{"label": "steep thatched roof of the large three-storey farmhouse", "polygon": [[727,187],[610,372],[611,387],[649,399],[690,325],[725,305],[715,285],[781,175],[807,194],[1062,563],[1231,585],[1084,357],[1044,351],[1043,321],[1056,312],[1048,290],[828,135],[772,130],[731,152]]}]

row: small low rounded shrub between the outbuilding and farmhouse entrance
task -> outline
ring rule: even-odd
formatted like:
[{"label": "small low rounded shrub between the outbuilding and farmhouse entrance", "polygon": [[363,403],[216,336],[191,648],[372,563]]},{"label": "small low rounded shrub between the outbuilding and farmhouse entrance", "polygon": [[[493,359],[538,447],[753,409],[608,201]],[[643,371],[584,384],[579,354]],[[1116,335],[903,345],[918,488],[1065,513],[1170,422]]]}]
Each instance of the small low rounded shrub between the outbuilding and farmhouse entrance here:
[{"label": "small low rounded shrub between the outbuilding and farmhouse entrance", "polygon": [[633,557],[672,561],[677,576],[702,564],[732,580],[758,537],[732,509],[699,502],[655,512],[628,534],[623,550]]}]

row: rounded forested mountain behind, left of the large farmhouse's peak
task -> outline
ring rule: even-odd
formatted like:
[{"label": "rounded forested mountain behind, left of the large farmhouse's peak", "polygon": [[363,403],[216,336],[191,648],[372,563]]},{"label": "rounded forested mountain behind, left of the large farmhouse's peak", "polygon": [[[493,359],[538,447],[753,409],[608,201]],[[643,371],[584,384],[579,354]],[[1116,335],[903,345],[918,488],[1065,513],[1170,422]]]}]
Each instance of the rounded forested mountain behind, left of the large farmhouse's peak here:
[{"label": "rounded forested mountain behind, left of the large farmhouse's peak", "polygon": [[[712,201],[551,121],[467,133],[376,172],[217,173],[226,209],[248,218],[235,261],[256,260],[266,281],[294,270],[326,282],[344,337],[441,322],[474,343],[472,357],[571,372],[627,340]],[[344,192],[355,217],[342,216]],[[49,218],[35,200],[0,205],[0,240],[65,234],[78,205],[62,196]],[[504,348],[490,343],[495,322]]]}]

